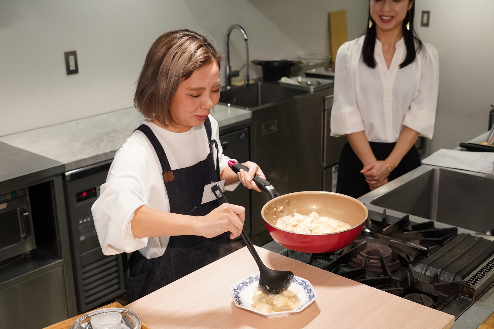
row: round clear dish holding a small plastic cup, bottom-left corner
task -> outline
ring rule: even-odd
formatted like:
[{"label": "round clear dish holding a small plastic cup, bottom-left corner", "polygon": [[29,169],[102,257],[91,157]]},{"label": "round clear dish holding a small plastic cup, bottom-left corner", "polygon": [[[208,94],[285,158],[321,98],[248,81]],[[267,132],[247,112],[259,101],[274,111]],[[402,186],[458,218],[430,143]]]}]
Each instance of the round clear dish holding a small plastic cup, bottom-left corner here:
[{"label": "round clear dish holding a small plastic cup, bottom-left corner", "polygon": [[70,329],[140,329],[141,318],[126,308],[101,308],[82,315]]}]

